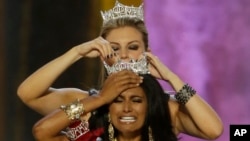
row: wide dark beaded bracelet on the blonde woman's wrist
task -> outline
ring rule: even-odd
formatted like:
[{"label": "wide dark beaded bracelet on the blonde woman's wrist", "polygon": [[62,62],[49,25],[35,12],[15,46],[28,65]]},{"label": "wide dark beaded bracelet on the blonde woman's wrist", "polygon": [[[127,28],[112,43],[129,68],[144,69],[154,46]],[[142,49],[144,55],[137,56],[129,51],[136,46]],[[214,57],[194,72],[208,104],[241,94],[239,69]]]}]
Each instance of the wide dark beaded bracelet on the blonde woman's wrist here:
[{"label": "wide dark beaded bracelet on the blonde woman's wrist", "polygon": [[185,105],[195,94],[196,91],[188,84],[185,84],[180,91],[175,94],[175,98],[180,104]]}]

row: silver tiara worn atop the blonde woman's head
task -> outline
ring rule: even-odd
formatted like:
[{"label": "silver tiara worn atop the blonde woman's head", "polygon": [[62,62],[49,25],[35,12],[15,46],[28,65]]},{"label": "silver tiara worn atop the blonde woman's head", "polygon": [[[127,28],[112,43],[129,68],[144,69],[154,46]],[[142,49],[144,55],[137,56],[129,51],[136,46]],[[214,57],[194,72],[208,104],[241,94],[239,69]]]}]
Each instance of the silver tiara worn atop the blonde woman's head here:
[{"label": "silver tiara worn atop the blonde woman's head", "polygon": [[139,7],[126,6],[116,1],[115,6],[108,11],[101,11],[103,23],[112,19],[118,19],[123,17],[137,17],[143,21],[143,4]]}]

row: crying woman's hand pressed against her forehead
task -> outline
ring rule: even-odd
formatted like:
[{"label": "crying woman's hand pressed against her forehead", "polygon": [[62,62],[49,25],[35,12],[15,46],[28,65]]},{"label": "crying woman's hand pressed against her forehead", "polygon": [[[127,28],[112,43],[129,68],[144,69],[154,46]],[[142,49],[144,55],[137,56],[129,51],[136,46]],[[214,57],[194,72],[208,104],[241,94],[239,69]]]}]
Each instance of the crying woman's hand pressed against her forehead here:
[{"label": "crying woman's hand pressed against her forehead", "polygon": [[123,91],[138,87],[142,83],[142,79],[141,76],[129,70],[113,73],[105,80],[99,96],[104,100],[104,103],[108,104]]}]

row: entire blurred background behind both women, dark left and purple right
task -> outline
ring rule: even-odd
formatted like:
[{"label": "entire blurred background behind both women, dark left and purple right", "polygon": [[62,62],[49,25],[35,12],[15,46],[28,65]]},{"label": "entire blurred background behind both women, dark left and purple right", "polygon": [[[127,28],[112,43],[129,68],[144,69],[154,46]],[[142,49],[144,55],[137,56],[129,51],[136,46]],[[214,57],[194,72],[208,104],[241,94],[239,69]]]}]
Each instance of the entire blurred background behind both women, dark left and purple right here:
[{"label": "entire blurred background behind both women, dark left and purple right", "polygon": [[[120,0],[138,6],[141,0]],[[41,118],[16,95],[36,69],[98,36],[115,0],[0,0],[0,140],[33,141]],[[150,47],[230,124],[250,124],[250,1],[144,0]],[[54,87],[97,86],[98,59],[82,59]],[[168,85],[161,82],[165,89]],[[198,113],[197,113],[198,114]],[[183,141],[203,141],[181,135]]]}]

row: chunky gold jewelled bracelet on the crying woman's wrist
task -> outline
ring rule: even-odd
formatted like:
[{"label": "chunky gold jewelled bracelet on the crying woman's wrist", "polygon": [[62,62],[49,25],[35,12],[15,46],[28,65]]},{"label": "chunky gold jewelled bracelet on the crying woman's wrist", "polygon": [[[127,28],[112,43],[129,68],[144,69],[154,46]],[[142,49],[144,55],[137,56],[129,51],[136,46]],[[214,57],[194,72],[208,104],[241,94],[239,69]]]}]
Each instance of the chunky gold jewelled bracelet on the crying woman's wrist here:
[{"label": "chunky gold jewelled bracelet on the crying woman's wrist", "polygon": [[81,115],[84,113],[83,104],[79,99],[72,102],[71,104],[61,105],[60,108],[65,112],[65,114],[68,116],[68,119],[71,121],[80,119]]}]

